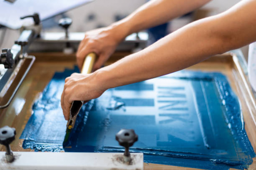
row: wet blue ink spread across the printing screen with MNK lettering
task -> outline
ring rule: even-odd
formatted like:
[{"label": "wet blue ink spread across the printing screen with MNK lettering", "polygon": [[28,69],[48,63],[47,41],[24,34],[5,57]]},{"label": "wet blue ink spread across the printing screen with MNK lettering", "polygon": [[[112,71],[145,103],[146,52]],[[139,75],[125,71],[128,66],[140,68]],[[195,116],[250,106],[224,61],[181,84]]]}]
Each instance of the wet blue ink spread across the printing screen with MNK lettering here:
[{"label": "wet blue ink spread across the printing screen with MNK lettering", "polygon": [[62,145],[66,121],[60,99],[64,79],[78,69],[55,73],[33,105],[21,139],[23,148],[51,152],[123,152],[115,140],[134,129],[147,163],[227,170],[248,168],[255,157],[239,101],[221,73],[182,70],[109,89],[85,104]]}]

